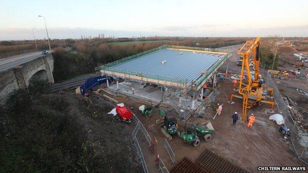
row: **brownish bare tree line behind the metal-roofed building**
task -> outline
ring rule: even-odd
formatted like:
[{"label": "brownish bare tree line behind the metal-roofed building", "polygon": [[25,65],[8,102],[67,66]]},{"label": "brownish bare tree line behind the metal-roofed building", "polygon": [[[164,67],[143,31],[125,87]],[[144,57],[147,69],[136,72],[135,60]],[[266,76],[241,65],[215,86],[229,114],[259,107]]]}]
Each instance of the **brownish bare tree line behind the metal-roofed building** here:
[{"label": "brownish bare tree line behind the metal-roofed building", "polygon": [[165,44],[218,48],[241,44],[248,38],[172,37],[171,40],[164,39],[153,42],[125,42],[123,44],[110,44],[99,38],[79,40],[72,43],[72,52],[67,52],[62,48],[54,50],[53,76],[55,81],[61,81],[76,75],[94,72],[95,67]]}]

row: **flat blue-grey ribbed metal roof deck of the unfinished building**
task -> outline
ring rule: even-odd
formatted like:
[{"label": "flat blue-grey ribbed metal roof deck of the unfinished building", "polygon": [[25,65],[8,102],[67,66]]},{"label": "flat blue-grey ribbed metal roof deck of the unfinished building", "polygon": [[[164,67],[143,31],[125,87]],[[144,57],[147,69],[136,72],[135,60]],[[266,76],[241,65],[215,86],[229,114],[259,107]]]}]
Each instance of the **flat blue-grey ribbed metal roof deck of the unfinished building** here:
[{"label": "flat blue-grey ribbed metal roof deck of the unfinished building", "polygon": [[[225,55],[161,49],[150,54],[112,66],[114,69],[131,70],[159,76],[197,79],[201,72],[210,69]],[[166,61],[162,64],[163,61]]]}]

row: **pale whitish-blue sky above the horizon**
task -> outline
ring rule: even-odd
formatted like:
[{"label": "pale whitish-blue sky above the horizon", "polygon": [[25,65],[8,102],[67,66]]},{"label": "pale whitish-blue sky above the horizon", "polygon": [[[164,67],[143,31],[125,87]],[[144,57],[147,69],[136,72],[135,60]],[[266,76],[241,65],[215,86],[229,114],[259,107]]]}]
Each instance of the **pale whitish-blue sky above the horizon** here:
[{"label": "pale whitish-blue sky above the horizon", "polygon": [[308,36],[308,0],[0,0],[0,40]]}]

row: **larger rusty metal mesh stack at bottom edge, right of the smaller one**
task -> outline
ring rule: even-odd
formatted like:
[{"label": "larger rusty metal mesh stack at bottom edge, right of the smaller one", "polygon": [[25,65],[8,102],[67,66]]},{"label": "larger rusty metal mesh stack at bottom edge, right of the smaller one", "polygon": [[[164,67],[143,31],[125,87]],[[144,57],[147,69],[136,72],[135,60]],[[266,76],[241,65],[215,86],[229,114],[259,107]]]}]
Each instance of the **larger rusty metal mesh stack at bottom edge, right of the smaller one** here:
[{"label": "larger rusty metal mesh stack at bottom edge, right of the smaller one", "polygon": [[199,156],[196,165],[209,173],[248,173],[207,149]]}]

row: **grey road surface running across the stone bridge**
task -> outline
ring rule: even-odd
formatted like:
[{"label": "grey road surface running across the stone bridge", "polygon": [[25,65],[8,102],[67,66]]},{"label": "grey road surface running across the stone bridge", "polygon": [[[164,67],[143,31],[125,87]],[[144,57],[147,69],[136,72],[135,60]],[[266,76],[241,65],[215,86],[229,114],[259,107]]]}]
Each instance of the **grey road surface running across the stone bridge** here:
[{"label": "grey road surface running across the stone bridge", "polygon": [[26,62],[32,61],[42,56],[45,55],[42,55],[41,51],[39,51],[28,54],[16,55],[8,58],[2,58],[0,59],[0,72],[5,71],[7,69],[12,69],[17,65],[24,64]]}]

